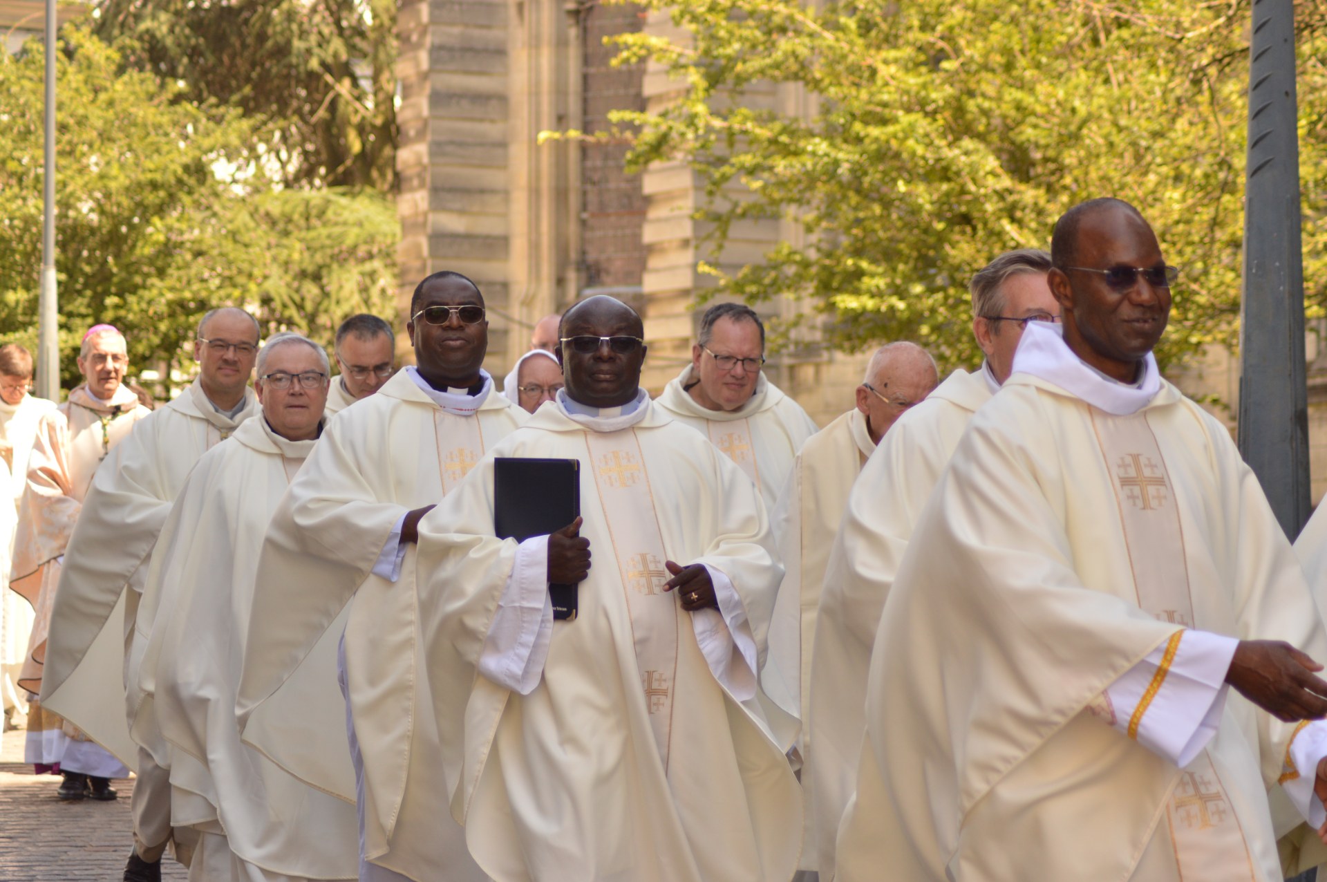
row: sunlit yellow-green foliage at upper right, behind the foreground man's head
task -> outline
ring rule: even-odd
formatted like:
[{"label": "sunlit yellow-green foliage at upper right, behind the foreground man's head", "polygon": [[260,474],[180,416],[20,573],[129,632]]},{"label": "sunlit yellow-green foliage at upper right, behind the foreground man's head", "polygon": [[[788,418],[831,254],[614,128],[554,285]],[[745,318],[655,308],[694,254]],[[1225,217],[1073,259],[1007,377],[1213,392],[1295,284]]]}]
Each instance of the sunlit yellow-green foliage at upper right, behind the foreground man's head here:
[{"label": "sunlit yellow-green foliage at upper right, behind the foreground man's head", "polygon": [[[1238,330],[1247,0],[691,0],[675,40],[616,37],[653,60],[675,101],[617,113],[636,168],[687,162],[714,223],[710,271],[747,300],[809,300],[828,342],[912,337],[977,357],[967,280],[994,255],[1048,247],[1070,206],[1115,195],[1184,269],[1162,357]],[[1327,243],[1327,85],[1320,0],[1299,7],[1306,279],[1320,302]],[[803,95],[802,118],[771,92]],[[804,247],[727,267],[733,224],[799,224]]]}]

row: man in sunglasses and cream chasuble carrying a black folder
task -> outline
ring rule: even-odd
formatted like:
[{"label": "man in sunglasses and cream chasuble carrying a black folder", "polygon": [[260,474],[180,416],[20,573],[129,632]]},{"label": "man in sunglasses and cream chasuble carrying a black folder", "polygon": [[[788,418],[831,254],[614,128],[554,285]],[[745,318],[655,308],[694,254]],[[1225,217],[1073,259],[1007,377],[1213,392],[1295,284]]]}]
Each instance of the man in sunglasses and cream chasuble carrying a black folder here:
[{"label": "man in sunglasses and cream chasuble carrying a black folder", "polygon": [[[782,568],[751,481],[640,389],[641,333],[567,310],[556,403],[421,523],[446,796],[499,882],[786,882],[800,793],[756,676]],[[500,456],[579,460],[581,517],[498,538]]]}]

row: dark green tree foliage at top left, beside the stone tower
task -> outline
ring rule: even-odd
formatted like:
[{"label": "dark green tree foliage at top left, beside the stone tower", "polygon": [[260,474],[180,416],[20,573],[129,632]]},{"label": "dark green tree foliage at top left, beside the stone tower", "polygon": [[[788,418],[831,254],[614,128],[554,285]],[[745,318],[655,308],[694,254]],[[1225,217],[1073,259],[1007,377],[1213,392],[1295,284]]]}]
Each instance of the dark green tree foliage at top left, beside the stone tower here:
[{"label": "dark green tree foliage at top left, beside the stone tower", "polygon": [[102,0],[94,33],[196,103],[243,111],[287,184],[395,186],[395,0]]}]

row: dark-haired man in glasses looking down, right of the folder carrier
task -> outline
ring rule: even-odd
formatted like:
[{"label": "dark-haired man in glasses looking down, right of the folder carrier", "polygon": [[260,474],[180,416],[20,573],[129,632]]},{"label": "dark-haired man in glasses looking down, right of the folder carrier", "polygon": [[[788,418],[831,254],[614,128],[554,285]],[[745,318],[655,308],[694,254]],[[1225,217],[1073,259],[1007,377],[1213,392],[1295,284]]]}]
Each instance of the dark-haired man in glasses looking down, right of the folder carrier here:
[{"label": "dark-haired man in glasses looking down, right of the folder carrier", "polygon": [[722,450],[772,511],[792,458],[816,434],[816,424],[768,381],[762,365],[760,317],[742,304],[715,304],[701,317],[691,363],[664,387],[656,405]]}]

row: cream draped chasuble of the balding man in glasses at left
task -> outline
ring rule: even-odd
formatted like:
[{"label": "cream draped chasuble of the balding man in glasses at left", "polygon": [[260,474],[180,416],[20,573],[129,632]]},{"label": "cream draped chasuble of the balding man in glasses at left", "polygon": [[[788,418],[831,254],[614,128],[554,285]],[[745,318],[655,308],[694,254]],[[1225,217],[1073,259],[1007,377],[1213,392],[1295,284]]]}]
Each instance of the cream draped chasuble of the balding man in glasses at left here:
[{"label": "cream draped chasuble of the balding man in glasses at left", "polygon": [[[138,749],[129,737],[137,710],[137,675],[129,641],[145,565],[190,470],[210,447],[257,412],[244,390],[235,419],[219,414],[199,381],[141,419],[111,450],[84,499],[65,550],[46,643],[41,700],[84,729],[130,768]],[[125,586],[134,590],[125,592]],[[145,744],[149,749],[154,745]]]}]

